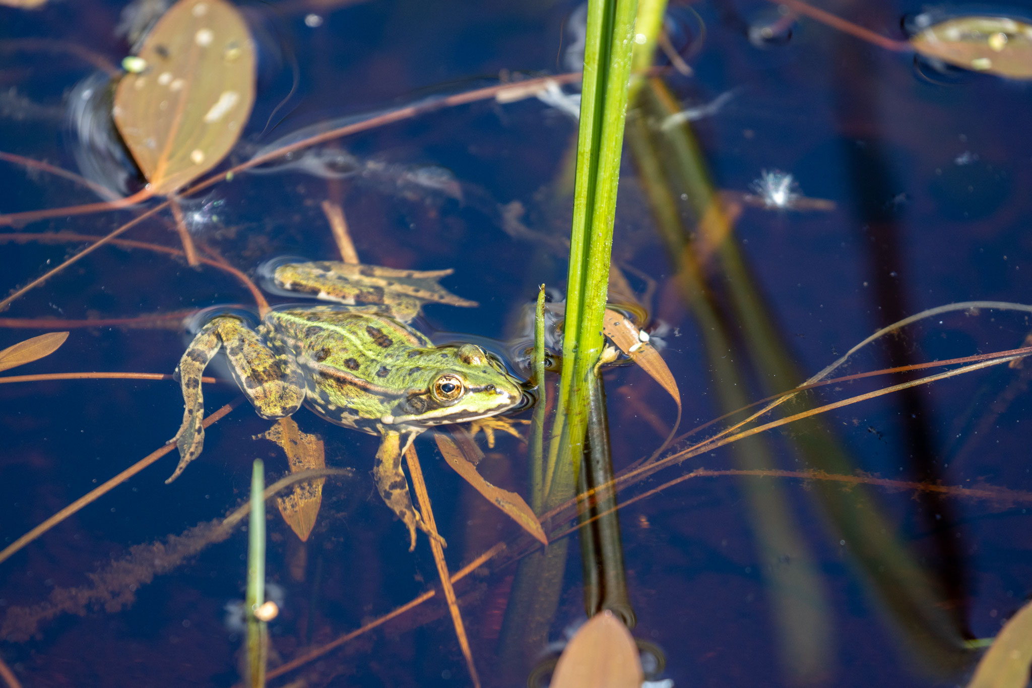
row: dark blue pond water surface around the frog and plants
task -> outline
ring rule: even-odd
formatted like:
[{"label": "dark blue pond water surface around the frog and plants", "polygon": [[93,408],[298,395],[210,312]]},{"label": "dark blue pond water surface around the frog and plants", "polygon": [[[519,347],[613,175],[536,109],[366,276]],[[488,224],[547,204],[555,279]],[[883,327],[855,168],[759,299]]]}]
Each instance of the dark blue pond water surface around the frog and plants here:
[{"label": "dark blue pond water surface around the frog and plants", "polygon": [[[98,70],[130,53],[123,9],[0,8],[0,152],[31,159],[0,161],[0,214],[104,198],[74,175],[138,190],[95,104],[109,97]],[[505,340],[488,348],[524,366],[526,304],[542,283],[553,305],[563,293],[575,79],[447,106],[442,94],[561,73],[576,50],[576,5],[290,0],[244,9],[258,93],[218,169],[369,113],[415,111],[182,198],[197,267],[187,265],[175,216],[161,210],[20,294],[0,314],[0,349],[71,334],[2,374],[170,374],[185,317],[255,308],[249,284],[271,258],[338,256],[323,201],[345,209],[364,263],[454,268],[443,286],[480,306],[428,306],[420,327],[436,341]],[[664,462],[644,461],[670,431],[674,404],[637,366],[605,373],[633,633],[647,657],[666,660],[646,679],[962,683],[977,658],[963,641],[994,635],[1032,589],[1028,366],[872,397],[725,447],[712,438],[748,414],[706,424],[942,304],[983,302],[881,336],[831,376],[1023,346],[1027,312],[988,302],[1032,293],[1032,208],[1020,193],[1032,183],[1027,89],[890,50],[906,39],[900,23],[912,7],[888,0],[839,8],[882,36],[880,46],[768,3],[691,9],[698,15],[672,10],[659,58],[672,67],[628,117],[613,247],[611,293],[637,301],[653,334],[662,324],[681,433],[702,426]],[[66,131],[65,117],[82,126]],[[157,204],[0,228],[3,296]],[[553,339],[557,327],[551,320]],[[839,380],[753,425],[940,371]],[[171,380],[37,380],[0,385],[0,395],[5,547],[161,448],[183,413]],[[205,396],[216,409],[234,401],[235,387],[213,383]],[[404,526],[375,494],[378,438],[308,411],[294,419],[322,437],[327,465],[354,474],[327,479],[305,543],[269,519],[266,570],[284,593],[269,626],[270,685],[466,682],[447,608],[425,598],[437,585],[429,549],[421,542],[408,553]],[[268,426],[246,407],[230,412],[175,484],[163,483],[173,460],[154,458],[164,467],[141,470],[0,562],[0,659],[24,685],[239,681],[240,638],[225,627],[224,605],[243,589],[247,536],[224,519],[246,498],[253,459],[265,461],[270,483],[289,469],[279,447],[254,439]],[[531,501],[527,445],[495,439],[478,440],[477,470]],[[415,446],[449,567],[462,574],[456,593],[483,682],[523,685],[533,675],[544,685],[550,668],[534,671],[584,616],[578,547],[562,536],[576,507],[544,520],[552,545],[541,553],[437,460],[434,443]],[[547,571],[544,583],[517,578],[525,569]],[[525,631],[514,636],[516,627]]]}]

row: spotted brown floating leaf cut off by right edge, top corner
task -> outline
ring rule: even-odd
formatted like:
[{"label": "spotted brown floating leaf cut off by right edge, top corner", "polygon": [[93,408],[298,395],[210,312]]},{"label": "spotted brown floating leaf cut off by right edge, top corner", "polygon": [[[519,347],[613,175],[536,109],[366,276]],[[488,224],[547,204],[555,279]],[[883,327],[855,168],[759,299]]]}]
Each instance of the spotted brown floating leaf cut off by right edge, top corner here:
[{"label": "spotted brown floating leaf cut off by right edge, top corner", "polygon": [[958,17],[910,38],[921,55],[964,69],[1032,78],[1032,25],[1006,17]]}]

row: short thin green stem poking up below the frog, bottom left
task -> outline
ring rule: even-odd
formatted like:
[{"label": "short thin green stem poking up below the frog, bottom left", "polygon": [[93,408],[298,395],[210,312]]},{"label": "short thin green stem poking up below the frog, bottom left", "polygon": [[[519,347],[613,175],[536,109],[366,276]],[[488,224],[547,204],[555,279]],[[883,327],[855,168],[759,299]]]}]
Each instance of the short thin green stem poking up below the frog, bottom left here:
[{"label": "short thin green stem poking up below the frog, bottom left", "polygon": [[251,688],[265,686],[267,624],[255,611],[265,601],[265,466],[255,459],[251,472],[251,519],[248,522],[248,667]]}]

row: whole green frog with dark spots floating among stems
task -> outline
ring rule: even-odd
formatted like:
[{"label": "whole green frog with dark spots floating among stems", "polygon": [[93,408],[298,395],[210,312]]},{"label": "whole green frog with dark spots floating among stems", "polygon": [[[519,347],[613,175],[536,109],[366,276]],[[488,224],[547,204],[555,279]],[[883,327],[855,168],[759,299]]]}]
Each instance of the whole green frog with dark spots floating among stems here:
[{"label": "whole green frog with dark spots floating among stems", "polygon": [[167,482],[201,452],[201,373],[225,349],[234,380],[262,418],[290,416],[303,403],[330,423],[380,435],[377,488],[415,549],[416,528],[429,530],[409,496],[405,450],[434,425],[488,419],[522,399],[519,381],[494,356],[472,343],[434,347],[409,325],[423,303],[477,305],[438,284],[450,273],[331,261],[266,268],[277,291],[346,305],[271,309],[254,329],[233,315],[209,320],[175,370],[186,412],[174,437],[180,463]]}]

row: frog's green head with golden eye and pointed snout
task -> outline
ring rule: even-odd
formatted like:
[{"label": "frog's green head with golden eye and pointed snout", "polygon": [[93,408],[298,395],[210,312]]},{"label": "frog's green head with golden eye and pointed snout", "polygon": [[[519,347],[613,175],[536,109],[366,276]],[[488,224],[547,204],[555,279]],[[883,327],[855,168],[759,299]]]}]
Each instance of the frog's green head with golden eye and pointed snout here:
[{"label": "frog's green head with golden eye and pointed snout", "polygon": [[519,381],[476,345],[419,350],[409,361],[419,366],[405,398],[381,418],[385,425],[430,426],[465,423],[518,405]]}]

